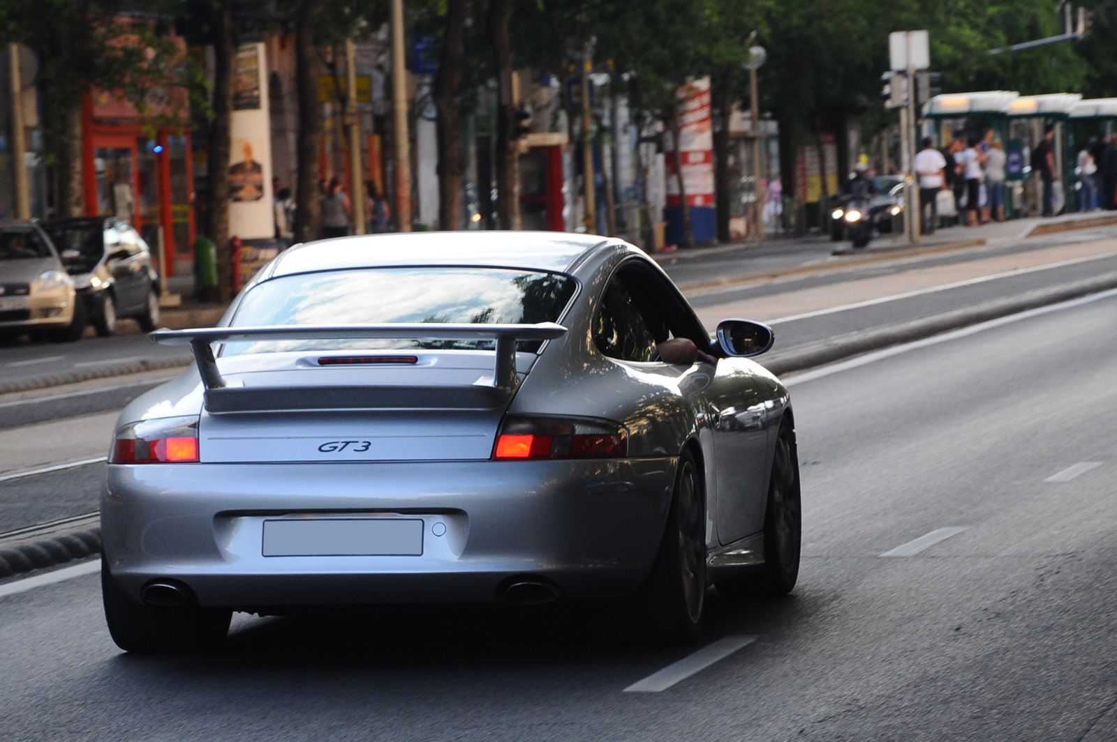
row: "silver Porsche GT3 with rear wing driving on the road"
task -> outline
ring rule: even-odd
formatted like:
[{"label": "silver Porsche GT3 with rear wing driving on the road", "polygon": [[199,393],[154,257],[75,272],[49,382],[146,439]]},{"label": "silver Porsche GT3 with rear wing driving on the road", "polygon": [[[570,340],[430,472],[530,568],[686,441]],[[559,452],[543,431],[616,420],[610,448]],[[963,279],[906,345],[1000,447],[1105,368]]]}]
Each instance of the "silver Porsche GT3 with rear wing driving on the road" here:
[{"label": "silver Porsche GT3 with rear wing driving on the road", "polygon": [[787,391],[615,239],[353,237],[265,267],[194,365],[121,414],[101,502],[113,639],[203,648],[232,610],[626,600],[667,639],[704,596],[786,592]]}]

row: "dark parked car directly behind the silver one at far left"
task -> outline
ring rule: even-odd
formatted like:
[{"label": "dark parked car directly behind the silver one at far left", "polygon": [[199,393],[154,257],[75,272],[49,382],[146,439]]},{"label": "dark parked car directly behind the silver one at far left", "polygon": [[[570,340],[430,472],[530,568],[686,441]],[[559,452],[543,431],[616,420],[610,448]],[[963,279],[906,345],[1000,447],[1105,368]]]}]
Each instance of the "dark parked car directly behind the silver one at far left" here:
[{"label": "dark parked car directly behind the silver one at far left", "polygon": [[97,335],[132,317],[145,331],[159,325],[159,274],[139,232],[116,216],[61,219],[44,224],[74,279]]}]

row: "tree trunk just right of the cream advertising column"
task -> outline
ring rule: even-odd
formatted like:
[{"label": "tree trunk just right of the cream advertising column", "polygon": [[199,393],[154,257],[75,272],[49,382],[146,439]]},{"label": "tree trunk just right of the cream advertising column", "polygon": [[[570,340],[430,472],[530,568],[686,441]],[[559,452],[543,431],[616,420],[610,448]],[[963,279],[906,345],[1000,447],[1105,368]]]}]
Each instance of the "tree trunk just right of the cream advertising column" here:
[{"label": "tree trunk just right of the cream advertising column", "polygon": [[318,59],[314,48],[313,21],[322,0],[304,0],[295,29],[295,90],[298,98],[298,136],[295,153],[298,175],[295,182],[295,241],[318,239],[322,203],[318,171],[322,166],[322,113],[318,105]]}]

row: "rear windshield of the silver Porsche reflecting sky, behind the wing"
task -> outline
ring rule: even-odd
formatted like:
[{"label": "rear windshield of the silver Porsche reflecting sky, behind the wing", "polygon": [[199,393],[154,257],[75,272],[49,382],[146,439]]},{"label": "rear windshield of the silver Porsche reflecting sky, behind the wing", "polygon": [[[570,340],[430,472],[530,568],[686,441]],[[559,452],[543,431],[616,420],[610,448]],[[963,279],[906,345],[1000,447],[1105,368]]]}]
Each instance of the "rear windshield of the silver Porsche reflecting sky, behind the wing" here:
[{"label": "rear windshield of the silver Porsche reflecting sky, behind the wing", "polygon": [[[557,273],[497,268],[371,268],[264,281],[245,295],[232,325],[515,325],[557,321],[574,296]],[[266,340],[226,345],[222,355],[351,348],[490,349],[487,340]],[[521,343],[535,351],[541,344]]]}]

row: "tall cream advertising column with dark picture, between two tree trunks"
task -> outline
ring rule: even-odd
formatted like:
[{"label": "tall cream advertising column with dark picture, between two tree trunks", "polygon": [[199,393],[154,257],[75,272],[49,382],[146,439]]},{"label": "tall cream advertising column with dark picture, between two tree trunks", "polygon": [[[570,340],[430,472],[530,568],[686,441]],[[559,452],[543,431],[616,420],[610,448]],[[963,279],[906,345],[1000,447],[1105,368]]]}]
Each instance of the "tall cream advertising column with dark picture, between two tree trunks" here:
[{"label": "tall cream advertising column with dark picture, between two tree trunks", "polygon": [[229,234],[241,240],[275,237],[271,209],[271,126],[268,121],[264,45],[237,52],[232,148],[229,162]]}]

